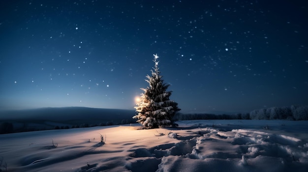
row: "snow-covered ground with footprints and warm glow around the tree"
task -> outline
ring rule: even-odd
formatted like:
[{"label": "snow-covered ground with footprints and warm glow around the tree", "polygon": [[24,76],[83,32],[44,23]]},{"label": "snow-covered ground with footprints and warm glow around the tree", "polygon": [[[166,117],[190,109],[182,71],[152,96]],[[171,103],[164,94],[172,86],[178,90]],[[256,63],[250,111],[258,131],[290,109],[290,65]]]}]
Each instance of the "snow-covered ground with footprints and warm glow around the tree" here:
[{"label": "snow-covered ground with footprints and warm glow around the tree", "polygon": [[[308,121],[180,121],[0,135],[7,172],[307,172]],[[106,135],[101,144],[100,134]],[[54,142],[54,145],[53,145]]]}]

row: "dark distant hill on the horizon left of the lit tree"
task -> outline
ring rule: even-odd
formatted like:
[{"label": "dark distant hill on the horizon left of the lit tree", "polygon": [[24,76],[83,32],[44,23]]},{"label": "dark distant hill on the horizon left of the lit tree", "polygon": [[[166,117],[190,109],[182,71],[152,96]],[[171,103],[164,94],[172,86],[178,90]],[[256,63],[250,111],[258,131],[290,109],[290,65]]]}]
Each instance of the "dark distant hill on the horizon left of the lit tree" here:
[{"label": "dark distant hill on the horizon left of the lit tree", "polygon": [[13,125],[13,132],[54,128],[135,123],[134,110],[88,107],[46,107],[0,112],[0,125]]}]

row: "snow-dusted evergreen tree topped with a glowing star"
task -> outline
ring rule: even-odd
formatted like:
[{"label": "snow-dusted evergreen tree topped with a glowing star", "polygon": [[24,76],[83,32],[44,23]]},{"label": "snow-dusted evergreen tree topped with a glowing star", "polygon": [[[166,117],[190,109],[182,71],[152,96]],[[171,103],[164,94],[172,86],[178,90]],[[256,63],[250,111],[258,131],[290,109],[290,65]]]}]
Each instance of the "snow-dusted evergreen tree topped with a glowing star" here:
[{"label": "snow-dusted evergreen tree topped with a glowing star", "polygon": [[153,55],[155,66],[151,70],[152,76],[146,76],[150,87],[141,88],[144,93],[141,94],[140,101],[134,107],[137,115],[133,116],[146,129],[172,126],[174,115],[181,110],[178,108],[178,103],[169,99],[172,91],[166,90],[170,84],[163,83],[164,80],[161,79],[158,68],[158,56]]}]

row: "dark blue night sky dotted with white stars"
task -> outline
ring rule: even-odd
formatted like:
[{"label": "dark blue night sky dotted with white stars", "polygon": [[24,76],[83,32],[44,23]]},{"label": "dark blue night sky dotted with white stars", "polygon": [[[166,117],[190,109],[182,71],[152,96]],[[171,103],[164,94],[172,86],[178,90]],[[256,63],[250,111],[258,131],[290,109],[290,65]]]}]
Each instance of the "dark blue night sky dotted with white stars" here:
[{"label": "dark blue night sky dotted with white stars", "polygon": [[1,0],[0,108],[131,109],[154,56],[182,113],[308,104],[307,0]]}]

